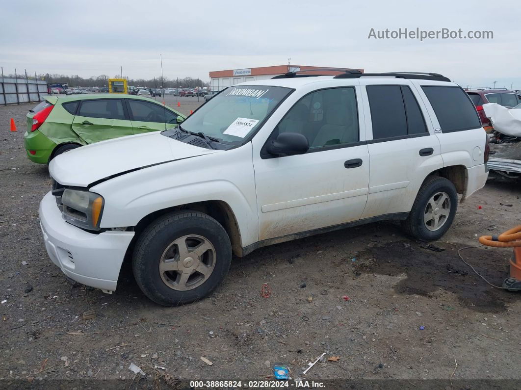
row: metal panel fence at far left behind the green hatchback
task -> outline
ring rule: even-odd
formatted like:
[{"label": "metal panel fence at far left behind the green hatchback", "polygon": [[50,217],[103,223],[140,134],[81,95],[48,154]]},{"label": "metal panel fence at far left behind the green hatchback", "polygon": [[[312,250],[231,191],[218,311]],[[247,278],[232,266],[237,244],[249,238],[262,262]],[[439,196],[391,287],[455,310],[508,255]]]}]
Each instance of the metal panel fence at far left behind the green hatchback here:
[{"label": "metal panel fence at far left behind the green hatchback", "polygon": [[2,78],[0,79],[0,104],[7,106],[13,103],[41,102],[43,97],[48,95],[47,82],[26,77],[7,78],[4,77],[2,69]]}]

